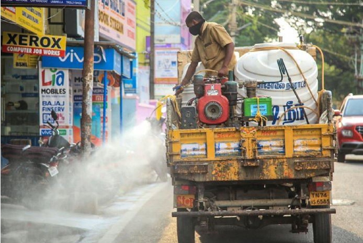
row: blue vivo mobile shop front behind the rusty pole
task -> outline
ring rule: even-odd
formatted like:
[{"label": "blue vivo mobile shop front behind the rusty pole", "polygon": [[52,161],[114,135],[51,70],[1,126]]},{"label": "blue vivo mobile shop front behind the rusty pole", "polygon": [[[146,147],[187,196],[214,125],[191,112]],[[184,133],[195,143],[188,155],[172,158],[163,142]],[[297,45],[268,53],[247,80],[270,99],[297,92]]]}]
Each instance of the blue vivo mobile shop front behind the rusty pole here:
[{"label": "blue vivo mobile shop front behind the rusty pole", "polygon": [[[110,141],[111,135],[117,136],[120,133],[120,125],[117,124],[120,124],[122,112],[120,99],[122,55],[117,49],[111,48],[105,42],[102,43],[96,42],[94,49],[91,141],[95,145]],[[69,100],[70,107],[72,107],[69,109],[69,114],[73,119],[72,140],[75,143],[81,141],[83,53],[83,46],[69,45],[63,58],[42,58],[44,70],[59,69],[69,73]],[[49,108],[45,108],[45,110],[49,110]],[[46,130],[42,125],[44,123],[41,124],[41,129]]]}]

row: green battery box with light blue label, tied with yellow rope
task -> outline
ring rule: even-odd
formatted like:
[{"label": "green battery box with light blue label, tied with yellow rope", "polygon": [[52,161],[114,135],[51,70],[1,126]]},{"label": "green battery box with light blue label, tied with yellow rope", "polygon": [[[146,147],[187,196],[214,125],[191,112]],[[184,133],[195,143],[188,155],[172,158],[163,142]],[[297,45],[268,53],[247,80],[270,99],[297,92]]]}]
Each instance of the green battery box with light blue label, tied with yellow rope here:
[{"label": "green battery box with light blue label, tied with yellow rope", "polygon": [[[257,107],[257,103],[259,104],[259,107]],[[260,114],[262,116],[266,116],[267,118],[269,118],[272,116],[272,98],[271,97],[246,98],[244,99],[243,102],[243,108],[244,108],[244,116],[247,117],[256,116],[259,108]]]}]

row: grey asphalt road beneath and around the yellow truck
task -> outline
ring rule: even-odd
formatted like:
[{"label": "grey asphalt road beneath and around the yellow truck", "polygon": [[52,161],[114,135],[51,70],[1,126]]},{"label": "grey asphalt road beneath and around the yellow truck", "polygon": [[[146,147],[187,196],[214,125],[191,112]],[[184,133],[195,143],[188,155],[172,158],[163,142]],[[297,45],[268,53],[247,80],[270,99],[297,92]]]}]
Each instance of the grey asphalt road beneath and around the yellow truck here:
[{"label": "grey asphalt road beneath and around the yellow truck", "polygon": [[[363,162],[335,163],[332,215],[334,243],[363,243]],[[143,185],[100,208],[97,215],[52,210],[29,211],[1,204],[2,243],[177,243],[171,217],[171,181]],[[313,243],[307,234],[292,234],[289,225],[260,230],[220,227],[199,235],[197,243]],[[16,236],[16,237],[15,237]]]}]

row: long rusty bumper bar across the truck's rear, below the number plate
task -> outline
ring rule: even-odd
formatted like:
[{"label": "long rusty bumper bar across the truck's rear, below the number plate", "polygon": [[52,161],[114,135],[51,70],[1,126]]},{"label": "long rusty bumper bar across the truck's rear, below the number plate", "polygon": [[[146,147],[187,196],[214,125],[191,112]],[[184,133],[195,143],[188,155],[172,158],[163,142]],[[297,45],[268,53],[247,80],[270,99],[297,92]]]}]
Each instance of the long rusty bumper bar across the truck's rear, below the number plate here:
[{"label": "long rusty bumper bar across the truck's rear, below the number plate", "polygon": [[302,214],[335,214],[335,209],[266,209],[244,211],[205,211],[205,212],[172,212],[172,217],[224,217],[224,216],[258,216],[258,215],[302,215]]}]

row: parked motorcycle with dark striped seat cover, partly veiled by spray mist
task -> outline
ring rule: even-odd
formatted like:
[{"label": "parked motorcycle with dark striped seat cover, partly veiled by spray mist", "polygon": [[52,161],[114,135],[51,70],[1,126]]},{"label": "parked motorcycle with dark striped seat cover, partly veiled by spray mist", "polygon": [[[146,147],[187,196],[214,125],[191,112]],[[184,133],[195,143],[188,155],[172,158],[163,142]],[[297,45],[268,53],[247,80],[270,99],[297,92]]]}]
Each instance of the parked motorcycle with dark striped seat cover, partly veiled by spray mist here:
[{"label": "parked motorcycle with dark striped seat cover, partly veiled by spray mist", "polygon": [[58,174],[54,162],[62,152],[57,148],[3,144],[1,153],[9,161],[1,169],[1,195],[39,209],[49,195],[51,178]]}]

